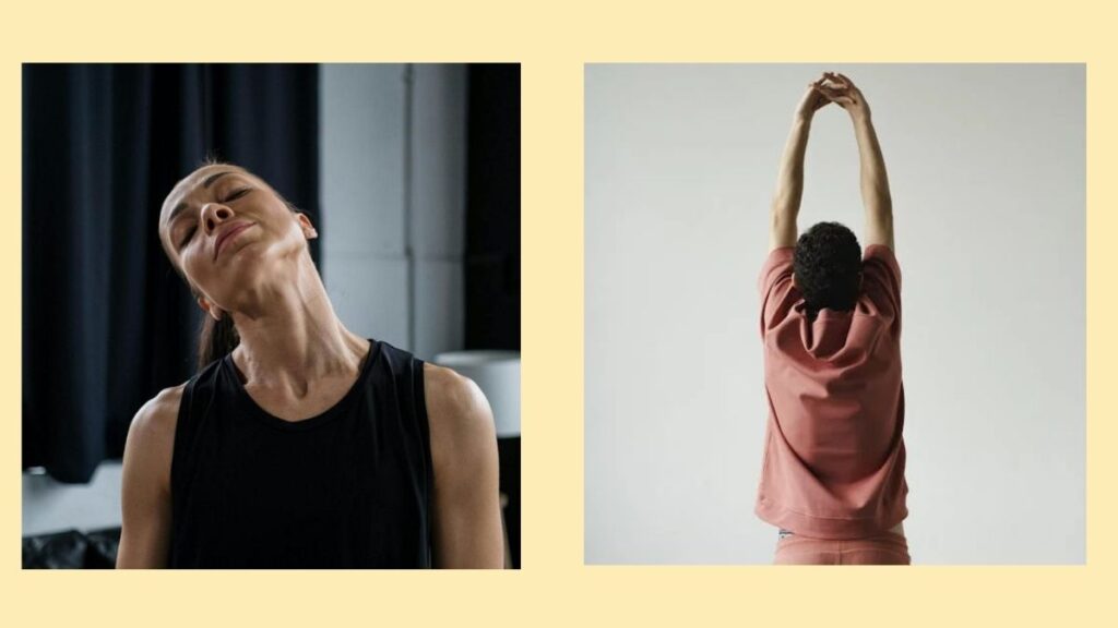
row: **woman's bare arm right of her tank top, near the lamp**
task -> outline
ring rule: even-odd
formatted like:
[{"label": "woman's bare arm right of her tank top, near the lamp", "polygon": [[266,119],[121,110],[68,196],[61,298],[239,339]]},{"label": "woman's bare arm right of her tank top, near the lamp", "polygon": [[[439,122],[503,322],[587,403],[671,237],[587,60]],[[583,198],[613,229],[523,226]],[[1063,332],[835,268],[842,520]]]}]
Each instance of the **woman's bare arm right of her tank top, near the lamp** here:
[{"label": "woman's bare arm right of her tank top, near the lamp", "polygon": [[425,364],[424,388],[435,469],[435,567],[504,567],[496,430],[473,381]]}]

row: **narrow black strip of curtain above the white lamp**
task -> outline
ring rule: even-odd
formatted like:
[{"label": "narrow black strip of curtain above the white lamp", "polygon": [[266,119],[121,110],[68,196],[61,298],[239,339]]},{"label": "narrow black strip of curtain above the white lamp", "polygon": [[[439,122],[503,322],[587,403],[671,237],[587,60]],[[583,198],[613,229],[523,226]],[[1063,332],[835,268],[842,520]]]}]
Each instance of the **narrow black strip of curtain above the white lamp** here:
[{"label": "narrow black strip of curtain above the white lamp", "polygon": [[470,67],[466,349],[520,350],[520,66]]}]

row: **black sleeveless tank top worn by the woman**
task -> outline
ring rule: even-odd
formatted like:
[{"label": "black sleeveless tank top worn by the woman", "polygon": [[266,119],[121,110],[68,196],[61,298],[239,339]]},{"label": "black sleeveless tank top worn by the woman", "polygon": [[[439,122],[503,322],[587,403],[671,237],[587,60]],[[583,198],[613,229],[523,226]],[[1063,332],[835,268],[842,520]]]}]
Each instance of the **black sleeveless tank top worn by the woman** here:
[{"label": "black sleeveless tank top worn by the woman", "polygon": [[182,392],[169,567],[429,568],[423,361],[370,341],[357,382],[300,421],[269,415],[226,355]]}]

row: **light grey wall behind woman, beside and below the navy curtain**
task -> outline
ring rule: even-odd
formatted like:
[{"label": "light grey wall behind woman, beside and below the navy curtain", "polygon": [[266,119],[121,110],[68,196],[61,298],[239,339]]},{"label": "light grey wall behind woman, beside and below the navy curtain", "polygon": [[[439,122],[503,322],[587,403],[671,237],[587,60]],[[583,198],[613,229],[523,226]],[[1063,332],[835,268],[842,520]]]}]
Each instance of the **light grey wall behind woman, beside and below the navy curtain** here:
[{"label": "light grey wall behind woman, beside and below the navy curtain", "polygon": [[[322,275],[353,332],[429,359],[463,348],[466,67],[323,65]],[[121,524],[121,464],[87,486],[22,477],[22,532]]]}]

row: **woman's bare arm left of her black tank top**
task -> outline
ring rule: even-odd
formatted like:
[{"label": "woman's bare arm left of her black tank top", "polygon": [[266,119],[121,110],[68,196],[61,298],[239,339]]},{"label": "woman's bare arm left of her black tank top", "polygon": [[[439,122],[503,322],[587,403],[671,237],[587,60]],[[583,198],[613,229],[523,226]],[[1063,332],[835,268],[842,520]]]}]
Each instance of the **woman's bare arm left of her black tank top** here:
[{"label": "woman's bare arm left of her black tank top", "polygon": [[167,567],[171,539],[171,455],[182,387],[140,408],[124,445],[123,524],[116,569]]}]

